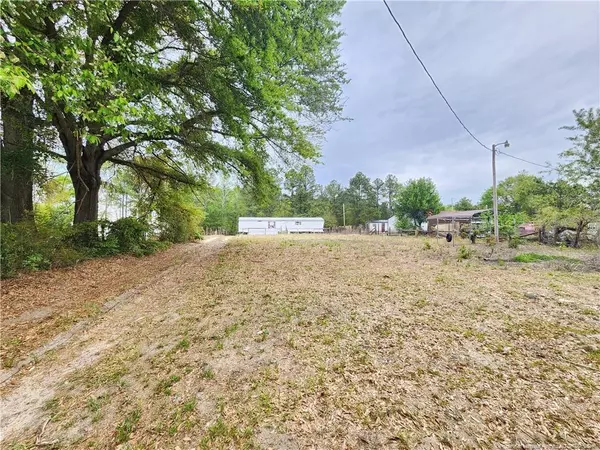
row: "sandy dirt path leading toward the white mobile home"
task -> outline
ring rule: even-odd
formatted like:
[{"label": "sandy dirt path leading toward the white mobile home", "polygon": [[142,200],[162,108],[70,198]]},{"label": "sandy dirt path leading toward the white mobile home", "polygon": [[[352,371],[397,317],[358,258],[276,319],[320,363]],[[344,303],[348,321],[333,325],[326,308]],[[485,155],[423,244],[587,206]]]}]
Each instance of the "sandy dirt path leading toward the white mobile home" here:
[{"label": "sandy dirt path leading toward the white mobile home", "polygon": [[[212,236],[201,244],[185,246],[178,264],[113,298],[103,306],[102,313],[76,324],[38,349],[38,357],[49,350],[52,357],[24,369],[27,372],[19,374],[17,386],[2,397],[0,442],[16,439],[26,429],[41,427],[44,408],[57,387],[64,385],[74,371],[89,366],[115,345],[123,345],[135,336],[142,321],[152,324],[176,320],[176,311],[185,301],[184,286],[202,276],[203,269],[225,242],[226,238]],[[137,269],[143,270],[143,266]],[[11,371],[0,374],[4,390],[13,375]]]}]

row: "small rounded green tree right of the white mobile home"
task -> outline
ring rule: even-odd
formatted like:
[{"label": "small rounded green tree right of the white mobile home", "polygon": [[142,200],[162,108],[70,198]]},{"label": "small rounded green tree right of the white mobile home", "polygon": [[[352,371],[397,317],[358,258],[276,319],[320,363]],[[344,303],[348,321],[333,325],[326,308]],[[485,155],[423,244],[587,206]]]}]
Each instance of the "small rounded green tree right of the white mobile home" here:
[{"label": "small rounded green tree right of the white mobile home", "polygon": [[395,212],[398,217],[409,217],[418,227],[427,216],[440,211],[442,202],[434,182],[430,178],[409,180],[396,198]]}]

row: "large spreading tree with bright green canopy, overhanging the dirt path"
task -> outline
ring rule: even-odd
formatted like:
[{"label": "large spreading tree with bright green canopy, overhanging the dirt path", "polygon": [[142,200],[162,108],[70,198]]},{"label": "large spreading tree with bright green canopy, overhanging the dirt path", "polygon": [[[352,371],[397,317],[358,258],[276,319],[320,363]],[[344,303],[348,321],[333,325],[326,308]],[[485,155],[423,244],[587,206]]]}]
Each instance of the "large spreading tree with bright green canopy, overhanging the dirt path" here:
[{"label": "large spreading tree with bright green canopy, overhanging the dirt path", "polygon": [[261,187],[273,157],[315,159],[341,117],[342,5],[7,1],[2,88],[29,88],[49,119],[76,222],[96,219],[106,163],[188,184],[233,171]]}]

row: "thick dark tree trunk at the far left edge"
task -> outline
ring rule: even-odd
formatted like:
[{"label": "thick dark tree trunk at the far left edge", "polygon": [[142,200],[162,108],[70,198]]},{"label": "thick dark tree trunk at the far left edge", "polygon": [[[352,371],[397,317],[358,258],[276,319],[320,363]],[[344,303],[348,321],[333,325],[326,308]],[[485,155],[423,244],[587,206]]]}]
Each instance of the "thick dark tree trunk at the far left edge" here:
[{"label": "thick dark tree trunk at the far left edge", "polygon": [[9,99],[2,95],[3,139],[0,143],[2,222],[18,222],[33,211],[33,96],[23,90]]}]

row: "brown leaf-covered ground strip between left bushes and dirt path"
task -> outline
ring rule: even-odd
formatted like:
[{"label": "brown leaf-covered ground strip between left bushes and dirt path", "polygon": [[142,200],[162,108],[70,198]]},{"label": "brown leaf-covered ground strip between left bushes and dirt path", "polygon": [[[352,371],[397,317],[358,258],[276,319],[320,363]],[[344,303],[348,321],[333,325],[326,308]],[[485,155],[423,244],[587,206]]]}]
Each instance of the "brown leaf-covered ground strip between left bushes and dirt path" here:
[{"label": "brown leaf-covered ground strip between left bushes and dirt path", "polygon": [[98,316],[115,296],[179,264],[189,246],[145,258],[119,255],[73,267],[21,273],[2,280],[0,360],[11,369],[30,352],[82,319]]}]

